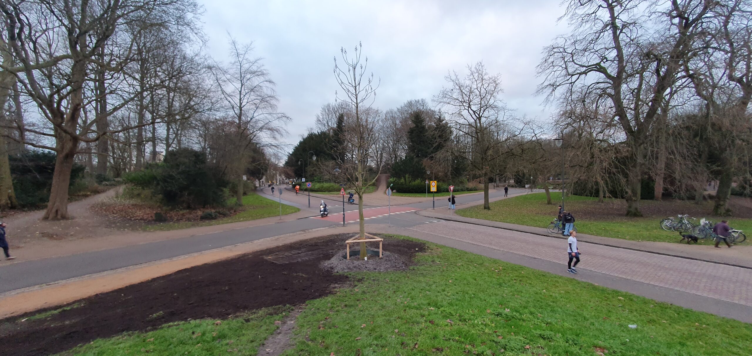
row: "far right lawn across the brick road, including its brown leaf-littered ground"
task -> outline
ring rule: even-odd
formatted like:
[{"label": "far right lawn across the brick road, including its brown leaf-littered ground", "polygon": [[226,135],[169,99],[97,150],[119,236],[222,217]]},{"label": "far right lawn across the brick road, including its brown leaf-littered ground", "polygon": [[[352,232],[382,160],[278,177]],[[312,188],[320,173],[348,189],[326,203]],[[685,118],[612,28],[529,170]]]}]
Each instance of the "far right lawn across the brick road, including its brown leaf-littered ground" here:
[{"label": "far right lawn across the brick road, including its brown leaf-littered ground", "polygon": [[[535,226],[544,231],[556,217],[561,193],[552,192],[551,198],[553,204],[548,205],[545,193],[520,195],[491,203],[491,210],[483,210],[483,206],[479,205],[457,210],[456,214],[467,218]],[[598,198],[569,195],[565,201],[566,210],[572,212],[577,219],[575,225],[578,233],[633,241],[669,243],[678,243],[681,237],[677,232],[660,228],[660,220],[680,213],[690,213],[698,218],[705,217],[701,214],[703,210],[706,212],[711,210],[708,204],[698,206],[687,201],[640,201],[641,210],[644,213],[654,212],[653,216],[628,218],[623,216],[626,210],[623,208],[624,201],[620,199],[606,199],[604,203],[599,203]],[[707,218],[720,221],[720,218],[712,216],[707,216]],[[729,218],[728,220],[733,228],[752,232],[752,219]],[[700,240],[700,243],[710,244],[712,240]]]}]

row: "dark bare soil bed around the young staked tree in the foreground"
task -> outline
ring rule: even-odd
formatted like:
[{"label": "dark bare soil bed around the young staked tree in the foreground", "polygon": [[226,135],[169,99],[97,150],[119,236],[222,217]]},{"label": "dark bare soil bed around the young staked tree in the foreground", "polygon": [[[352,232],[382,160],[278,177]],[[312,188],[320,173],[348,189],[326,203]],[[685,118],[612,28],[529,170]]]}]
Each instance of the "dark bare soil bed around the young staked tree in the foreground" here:
[{"label": "dark bare soil bed around the young staked tree in the foreground", "polygon": [[[228,318],[240,312],[296,305],[323,297],[347,276],[320,267],[344,254],[352,234],[329,235],[238,258],[180,270],[108,293],[77,300],[47,318],[41,312],[0,320],[0,354],[47,355],[94,339],[150,330],[174,321]],[[409,261],[422,243],[387,238],[384,250]],[[20,321],[28,318],[26,321]]]}]

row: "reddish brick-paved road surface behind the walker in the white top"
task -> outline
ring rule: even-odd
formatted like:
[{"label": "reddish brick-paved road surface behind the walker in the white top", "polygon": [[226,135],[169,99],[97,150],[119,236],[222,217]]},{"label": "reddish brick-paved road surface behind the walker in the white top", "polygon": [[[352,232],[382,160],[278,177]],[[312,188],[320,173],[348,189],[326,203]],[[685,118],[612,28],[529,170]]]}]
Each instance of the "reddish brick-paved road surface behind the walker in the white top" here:
[{"label": "reddish brick-paved road surface behind the walker in the white top", "polygon": [[[412,229],[519,255],[561,262],[562,270],[566,270],[566,240],[460,222],[421,224]],[[581,252],[578,271],[581,274],[593,270],[752,306],[752,270],[584,242],[578,245]]]}]

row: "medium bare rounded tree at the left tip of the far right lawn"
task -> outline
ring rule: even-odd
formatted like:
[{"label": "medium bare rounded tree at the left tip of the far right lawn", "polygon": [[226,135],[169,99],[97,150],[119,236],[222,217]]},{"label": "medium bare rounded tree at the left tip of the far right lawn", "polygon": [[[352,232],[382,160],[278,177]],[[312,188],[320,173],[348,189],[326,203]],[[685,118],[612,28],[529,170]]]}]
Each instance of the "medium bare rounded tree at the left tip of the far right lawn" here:
[{"label": "medium bare rounded tree at the left tip of the far right lawn", "polygon": [[483,62],[467,69],[464,77],[456,72],[447,74],[450,87],[441,89],[433,100],[447,113],[447,122],[468,139],[458,147],[459,153],[468,158],[474,173],[483,180],[484,209],[490,210],[488,183],[496,165],[535,132],[529,122],[511,116],[501,98],[501,75],[488,73]]}]

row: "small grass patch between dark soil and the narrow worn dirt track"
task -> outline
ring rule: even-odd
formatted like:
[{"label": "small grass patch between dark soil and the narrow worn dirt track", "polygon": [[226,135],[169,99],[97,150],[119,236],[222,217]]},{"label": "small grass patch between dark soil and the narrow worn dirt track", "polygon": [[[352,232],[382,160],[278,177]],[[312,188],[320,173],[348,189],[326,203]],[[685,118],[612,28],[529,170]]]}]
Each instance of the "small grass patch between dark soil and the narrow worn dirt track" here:
[{"label": "small grass patch between dark soil and the narrow worn dirt track", "polygon": [[148,333],[126,333],[98,339],[61,355],[256,354],[261,343],[277,329],[274,321],[282,320],[289,311],[287,307],[259,309],[223,320],[221,324],[215,324],[214,320],[166,324]]}]

